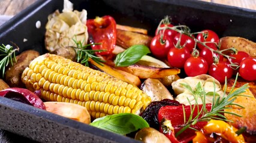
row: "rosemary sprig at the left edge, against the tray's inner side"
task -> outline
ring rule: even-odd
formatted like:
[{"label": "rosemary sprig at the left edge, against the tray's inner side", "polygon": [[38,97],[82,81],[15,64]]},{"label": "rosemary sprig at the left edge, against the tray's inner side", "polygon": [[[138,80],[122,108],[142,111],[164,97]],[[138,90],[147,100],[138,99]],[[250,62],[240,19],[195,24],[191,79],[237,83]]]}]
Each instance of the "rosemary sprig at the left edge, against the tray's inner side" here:
[{"label": "rosemary sprig at the left edge, against the tray's inner side", "polygon": [[15,52],[19,51],[19,48],[13,49],[13,46],[10,45],[0,45],[0,72],[2,73],[1,77],[4,77],[5,67],[11,63],[13,66],[13,60],[16,62],[16,54]]}]

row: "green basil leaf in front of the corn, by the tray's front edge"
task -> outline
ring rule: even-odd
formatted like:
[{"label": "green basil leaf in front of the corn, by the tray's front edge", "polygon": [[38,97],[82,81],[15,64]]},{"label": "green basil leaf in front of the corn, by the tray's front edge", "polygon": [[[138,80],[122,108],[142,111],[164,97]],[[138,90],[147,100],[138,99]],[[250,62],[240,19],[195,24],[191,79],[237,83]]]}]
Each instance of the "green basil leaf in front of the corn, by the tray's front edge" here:
[{"label": "green basil leaf in front of the corn, by the tray's front edge", "polygon": [[148,128],[149,124],[142,117],[131,113],[120,113],[95,119],[90,125],[110,132],[126,135],[135,130]]}]

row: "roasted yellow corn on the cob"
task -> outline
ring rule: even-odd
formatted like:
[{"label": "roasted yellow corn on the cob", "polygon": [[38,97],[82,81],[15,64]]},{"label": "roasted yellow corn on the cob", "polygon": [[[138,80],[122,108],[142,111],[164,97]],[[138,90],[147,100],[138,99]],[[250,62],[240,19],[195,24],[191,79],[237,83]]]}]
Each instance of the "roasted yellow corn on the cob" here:
[{"label": "roasted yellow corn on the cob", "polygon": [[95,118],[138,114],[150,103],[137,86],[53,54],[31,61],[22,81],[32,91],[41,90],[44,100],[83,105]]}]

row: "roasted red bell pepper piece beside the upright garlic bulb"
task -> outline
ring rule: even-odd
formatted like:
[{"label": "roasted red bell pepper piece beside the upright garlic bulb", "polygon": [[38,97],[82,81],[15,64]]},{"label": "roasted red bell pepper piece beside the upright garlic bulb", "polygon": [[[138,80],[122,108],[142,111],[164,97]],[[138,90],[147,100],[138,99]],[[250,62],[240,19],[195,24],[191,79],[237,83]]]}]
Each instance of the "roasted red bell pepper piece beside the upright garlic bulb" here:
[{"label": "roasted red bell pepper piece beside the upright garlic bulb", "polygon": [[92,45],[92,49],[104,50],[97,52],[100,55],[111,54],[116,46],[116,21],[113,17],[106,15],[96,17],[86,22],[89,34],[89,43],[101,43],[101,45]]}]

